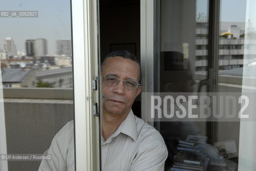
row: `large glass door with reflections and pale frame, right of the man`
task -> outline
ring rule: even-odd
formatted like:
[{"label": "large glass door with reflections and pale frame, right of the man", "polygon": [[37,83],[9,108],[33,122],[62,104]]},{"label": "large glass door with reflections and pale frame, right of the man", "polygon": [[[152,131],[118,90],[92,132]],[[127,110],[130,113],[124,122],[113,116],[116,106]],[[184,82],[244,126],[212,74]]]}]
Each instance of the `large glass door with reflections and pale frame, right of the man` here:
[{"label": "large glass door with reflections and pale frame, right of the man", "polygon": [[165,140],[165,170],[243,170],[241,125],[254,118],[242,120],[240,111],[254,97],[243,93],[242,73],[253,63],[255,30],[245,20],[251,2],[228,4],[141,1],[141,114]]}]

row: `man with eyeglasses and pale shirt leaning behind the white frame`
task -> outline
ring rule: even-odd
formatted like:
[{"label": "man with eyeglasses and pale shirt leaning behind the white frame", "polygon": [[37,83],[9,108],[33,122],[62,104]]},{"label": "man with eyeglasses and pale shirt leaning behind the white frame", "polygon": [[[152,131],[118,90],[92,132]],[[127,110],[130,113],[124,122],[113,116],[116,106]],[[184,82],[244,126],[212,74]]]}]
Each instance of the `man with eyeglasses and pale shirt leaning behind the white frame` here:
[{"label": "man with eyeglasses and pale shirt leaning behind the white frame", "polygon": [[[137,57],[128,51],[110,53],[103,59],[101,76],[102,170],[164,170],[168,152],[162,136],[131,110],[141,91]],[[52,160],[43,160],[39,170],[74,169],[72,128],[69,122],[55,136],[47,151]]]}]

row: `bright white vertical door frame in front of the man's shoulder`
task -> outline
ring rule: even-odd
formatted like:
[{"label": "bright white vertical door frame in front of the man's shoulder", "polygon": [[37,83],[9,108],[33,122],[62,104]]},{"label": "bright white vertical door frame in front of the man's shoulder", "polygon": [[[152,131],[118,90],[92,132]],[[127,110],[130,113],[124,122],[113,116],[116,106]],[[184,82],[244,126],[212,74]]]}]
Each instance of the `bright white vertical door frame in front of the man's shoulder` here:
[{"label": "bright white vertical door frame in front of the man's shoulder", "polygon": [[100,170],[99,117],[93,114],[100,88],[92,87],[99,76],[97,9],[97,0],[72,1],[76,170]]}]

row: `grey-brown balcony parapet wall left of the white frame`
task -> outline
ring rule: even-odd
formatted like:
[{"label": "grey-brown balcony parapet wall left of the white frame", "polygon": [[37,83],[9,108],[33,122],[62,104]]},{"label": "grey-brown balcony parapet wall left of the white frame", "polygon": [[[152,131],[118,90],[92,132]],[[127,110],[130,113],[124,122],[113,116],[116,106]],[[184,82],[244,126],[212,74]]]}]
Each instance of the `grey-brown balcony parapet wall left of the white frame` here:
[{"label": "grey-brown balcony parapet wall left of the white frame", "polygon": [[[27,90],[29,89],[20,89],[17,95],[21,95],[23,91],[25,97]],[[72,90],[59,92],[67,94],[66,91]],[[42,94],[49,97],[52,92],[44,90]],[[55,91],[55,94],[58,92]],[[5,90],[4,96],[8,154],[44,153],[55,134],[68,121],[73,120],[73,100],[70,98],[10,98],[11,95],[7,95]],[[8,161],[9,171],[37,170],[39,165],[40,161]]]}]

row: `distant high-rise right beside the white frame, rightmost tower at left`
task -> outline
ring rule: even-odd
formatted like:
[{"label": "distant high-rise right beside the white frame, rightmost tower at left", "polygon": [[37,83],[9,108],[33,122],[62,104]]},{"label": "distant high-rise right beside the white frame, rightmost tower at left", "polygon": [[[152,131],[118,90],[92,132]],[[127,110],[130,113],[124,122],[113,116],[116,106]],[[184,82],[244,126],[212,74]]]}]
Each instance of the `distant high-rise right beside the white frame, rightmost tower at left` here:
[{"label": "distant high-rise right beside the white frame, rightmost tower at left", "polygon": [[56,55],[71,56],[71,41],[70,40],[57,40],[56,41]]}]

